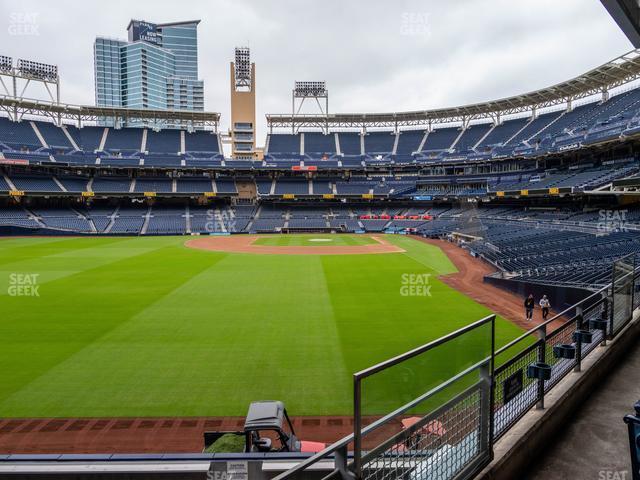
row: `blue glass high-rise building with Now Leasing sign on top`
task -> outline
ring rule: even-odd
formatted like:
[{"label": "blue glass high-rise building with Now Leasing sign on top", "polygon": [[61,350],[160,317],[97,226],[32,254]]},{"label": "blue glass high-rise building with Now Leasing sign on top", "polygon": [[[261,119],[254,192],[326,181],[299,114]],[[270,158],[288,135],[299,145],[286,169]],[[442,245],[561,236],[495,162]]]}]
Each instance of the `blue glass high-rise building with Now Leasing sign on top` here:
[{"label": "blue glass high-rise building with Now Leasing sign on top", "polygon": [[97,37],[96,105],[203,111],[204,82],[198,80],[199,23],[131,20],[126,41]]}]

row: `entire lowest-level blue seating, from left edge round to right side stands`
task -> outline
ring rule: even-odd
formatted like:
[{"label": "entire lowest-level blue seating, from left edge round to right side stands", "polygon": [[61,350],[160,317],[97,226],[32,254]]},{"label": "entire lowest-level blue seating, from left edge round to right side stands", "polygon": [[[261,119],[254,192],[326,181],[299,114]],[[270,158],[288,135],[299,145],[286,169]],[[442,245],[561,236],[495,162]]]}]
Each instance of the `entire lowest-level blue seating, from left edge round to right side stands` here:
[{"label": "entire lowest-level blue seating, from left edge round to right side stands", "polygon": [[[616,215],[617,213],[617,215]],[[640,254],[640,208],[613,212],[565,207],[407,207],[388,205],[176,206],[122,201],[89,208],[0,207],[0,227],[49,229],[98,235],[327,230],[402,232],[427,237],[472,235],[467,248],[508,273],[533,283],[597,288],[610,279],[611,262]],[[624,219],[624,223],[616,221]]]}]

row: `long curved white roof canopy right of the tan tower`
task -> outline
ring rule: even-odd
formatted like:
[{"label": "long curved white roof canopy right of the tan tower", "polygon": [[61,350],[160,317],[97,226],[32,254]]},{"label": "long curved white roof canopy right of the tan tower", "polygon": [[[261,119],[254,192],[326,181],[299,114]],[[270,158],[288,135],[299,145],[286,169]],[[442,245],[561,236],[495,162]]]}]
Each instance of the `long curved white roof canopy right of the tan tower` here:
[{"label": "long curved white roof canopy right of the tan tower", "polygon": [[587,73],[551,87],[522,95],[460,107],[392,113],[337,113],[329,115],[267,114],[270,128],[290,127],[398,127],[477,119],[498,120],[501,116],[566,104],[640,78],[640,49],[632,50]]}]

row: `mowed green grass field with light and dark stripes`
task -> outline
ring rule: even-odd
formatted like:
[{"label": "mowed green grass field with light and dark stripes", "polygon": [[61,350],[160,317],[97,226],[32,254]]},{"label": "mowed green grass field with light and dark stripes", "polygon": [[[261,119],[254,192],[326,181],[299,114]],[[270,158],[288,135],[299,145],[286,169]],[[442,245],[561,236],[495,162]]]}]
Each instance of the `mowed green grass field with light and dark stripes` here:
[{"label": "mowed green grass field with light and dark stripes", "polygon": [[[353,372],[490,313],[435,277],[430,297],[400,295],[403,275],[454,267],[438,248],[388,238],[406,253],[217,253],[187,248],[185,237],[0,239],[0,412],[244,415],[253,400],[278,399],[296,415],[348,414]],[[10,295],[33,279],[22,274],[37,275],[39,296]],[[499,344],[519,333],[498,320]],[[428,375],[455,362],[441,358]]]}]

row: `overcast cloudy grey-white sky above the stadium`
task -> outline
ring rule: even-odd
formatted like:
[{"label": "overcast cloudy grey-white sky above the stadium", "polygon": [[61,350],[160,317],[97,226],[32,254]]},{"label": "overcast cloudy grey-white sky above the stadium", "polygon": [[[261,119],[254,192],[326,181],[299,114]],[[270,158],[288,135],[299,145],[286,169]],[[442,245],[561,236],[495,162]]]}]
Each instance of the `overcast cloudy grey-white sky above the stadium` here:
[{"label": "overcast cloudy grey-white sky above the stadium", "polygon": [[1,0],[0,55],[59,65],[63,101],[92,104],[93,41],[125,38],[131,18],[202,20],[205,108],[224,128],[228,62],[251,47],[259,143],[294,80],[326,80],[334,113],[416,110],[545,87],[632,48],[598,0]]}]

